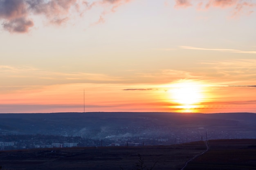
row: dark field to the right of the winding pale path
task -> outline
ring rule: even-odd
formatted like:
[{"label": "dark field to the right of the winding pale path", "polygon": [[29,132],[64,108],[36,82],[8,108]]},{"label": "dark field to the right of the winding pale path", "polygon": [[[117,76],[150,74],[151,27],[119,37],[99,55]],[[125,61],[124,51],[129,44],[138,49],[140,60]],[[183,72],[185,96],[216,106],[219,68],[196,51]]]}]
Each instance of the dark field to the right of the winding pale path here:
[{"label": "dark field to the right of the winding pale path", "polygon": [[209,150],[184,170],[256,170],[256,139],[209,140]]}]

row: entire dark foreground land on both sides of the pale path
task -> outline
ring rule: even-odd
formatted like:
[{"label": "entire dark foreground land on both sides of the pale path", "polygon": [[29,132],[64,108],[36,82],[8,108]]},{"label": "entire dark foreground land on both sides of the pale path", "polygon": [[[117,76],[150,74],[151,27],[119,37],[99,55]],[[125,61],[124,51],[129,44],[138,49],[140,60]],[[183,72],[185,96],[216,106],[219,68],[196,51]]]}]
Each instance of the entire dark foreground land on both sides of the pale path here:
[{"label": "entire dark foreground land on both sides of the pale path", "polygon": [[188,161],[184,170],[256,170],[256,139],[209,140],[208,146],[207,152],[205,141],[171,146],[8,150],[0,152],[0,166],[4,170],[137,170],[137,163],[143,160],[144,170],[152,166],[153,170],[180,170]]}]

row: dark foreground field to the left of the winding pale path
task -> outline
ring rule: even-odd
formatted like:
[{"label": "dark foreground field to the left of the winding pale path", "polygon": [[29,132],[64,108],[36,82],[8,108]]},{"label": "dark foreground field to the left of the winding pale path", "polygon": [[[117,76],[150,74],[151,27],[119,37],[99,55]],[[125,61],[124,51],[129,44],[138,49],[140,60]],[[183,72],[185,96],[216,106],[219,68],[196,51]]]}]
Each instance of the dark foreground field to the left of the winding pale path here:
[{"label": "dark foreground field to the left of the winding pale path", "polygon": [[90,147],[9,150],[0,152],[5,170],[137,170],[139,156],[153,170],[179,170],[206,150],[205,142],[172,146]]}]

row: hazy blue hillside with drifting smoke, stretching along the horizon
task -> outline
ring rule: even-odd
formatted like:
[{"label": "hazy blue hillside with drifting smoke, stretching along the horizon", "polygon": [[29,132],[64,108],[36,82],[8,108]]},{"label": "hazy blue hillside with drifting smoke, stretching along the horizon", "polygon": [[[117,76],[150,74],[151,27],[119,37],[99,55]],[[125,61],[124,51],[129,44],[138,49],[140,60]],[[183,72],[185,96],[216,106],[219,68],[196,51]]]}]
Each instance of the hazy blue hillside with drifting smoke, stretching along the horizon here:
[{"label": "hazy blue hillside with drifting smoke, stretching along the horizon", "polygon": [[[58,135],[145,145],[201,139],[255,138],[255,113],[17,113],[0,114],[4,135]],[[6,141],[8,142],[8,141]],[[11,141],[9,141],[11,142]],[[51,144],[51,143],[50,143]]]}]

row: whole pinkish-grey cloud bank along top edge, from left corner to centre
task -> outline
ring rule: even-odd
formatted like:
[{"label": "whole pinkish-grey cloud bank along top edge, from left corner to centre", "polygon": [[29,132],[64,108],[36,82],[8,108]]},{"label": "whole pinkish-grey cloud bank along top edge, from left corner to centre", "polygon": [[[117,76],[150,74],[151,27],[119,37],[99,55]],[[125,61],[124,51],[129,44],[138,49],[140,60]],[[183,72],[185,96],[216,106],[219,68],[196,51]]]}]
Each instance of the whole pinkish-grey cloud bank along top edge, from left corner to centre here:
[{"label": "whole pinkish-grey cloud bank along top edge, from left corner to centre", "polygon": [[65,24],[71,14],[81,16],[84,11],[95,6],[103,6],[104,11],[99,17],[99,23],[105,21],[104,16],[129,2],[130,0],[96,0],[92,3],[79,0],[0,0],[0,21],[4,30],[11,33],[27,33],[34,26],[31,19],[35,15],[45,17],[48,23]]}]

